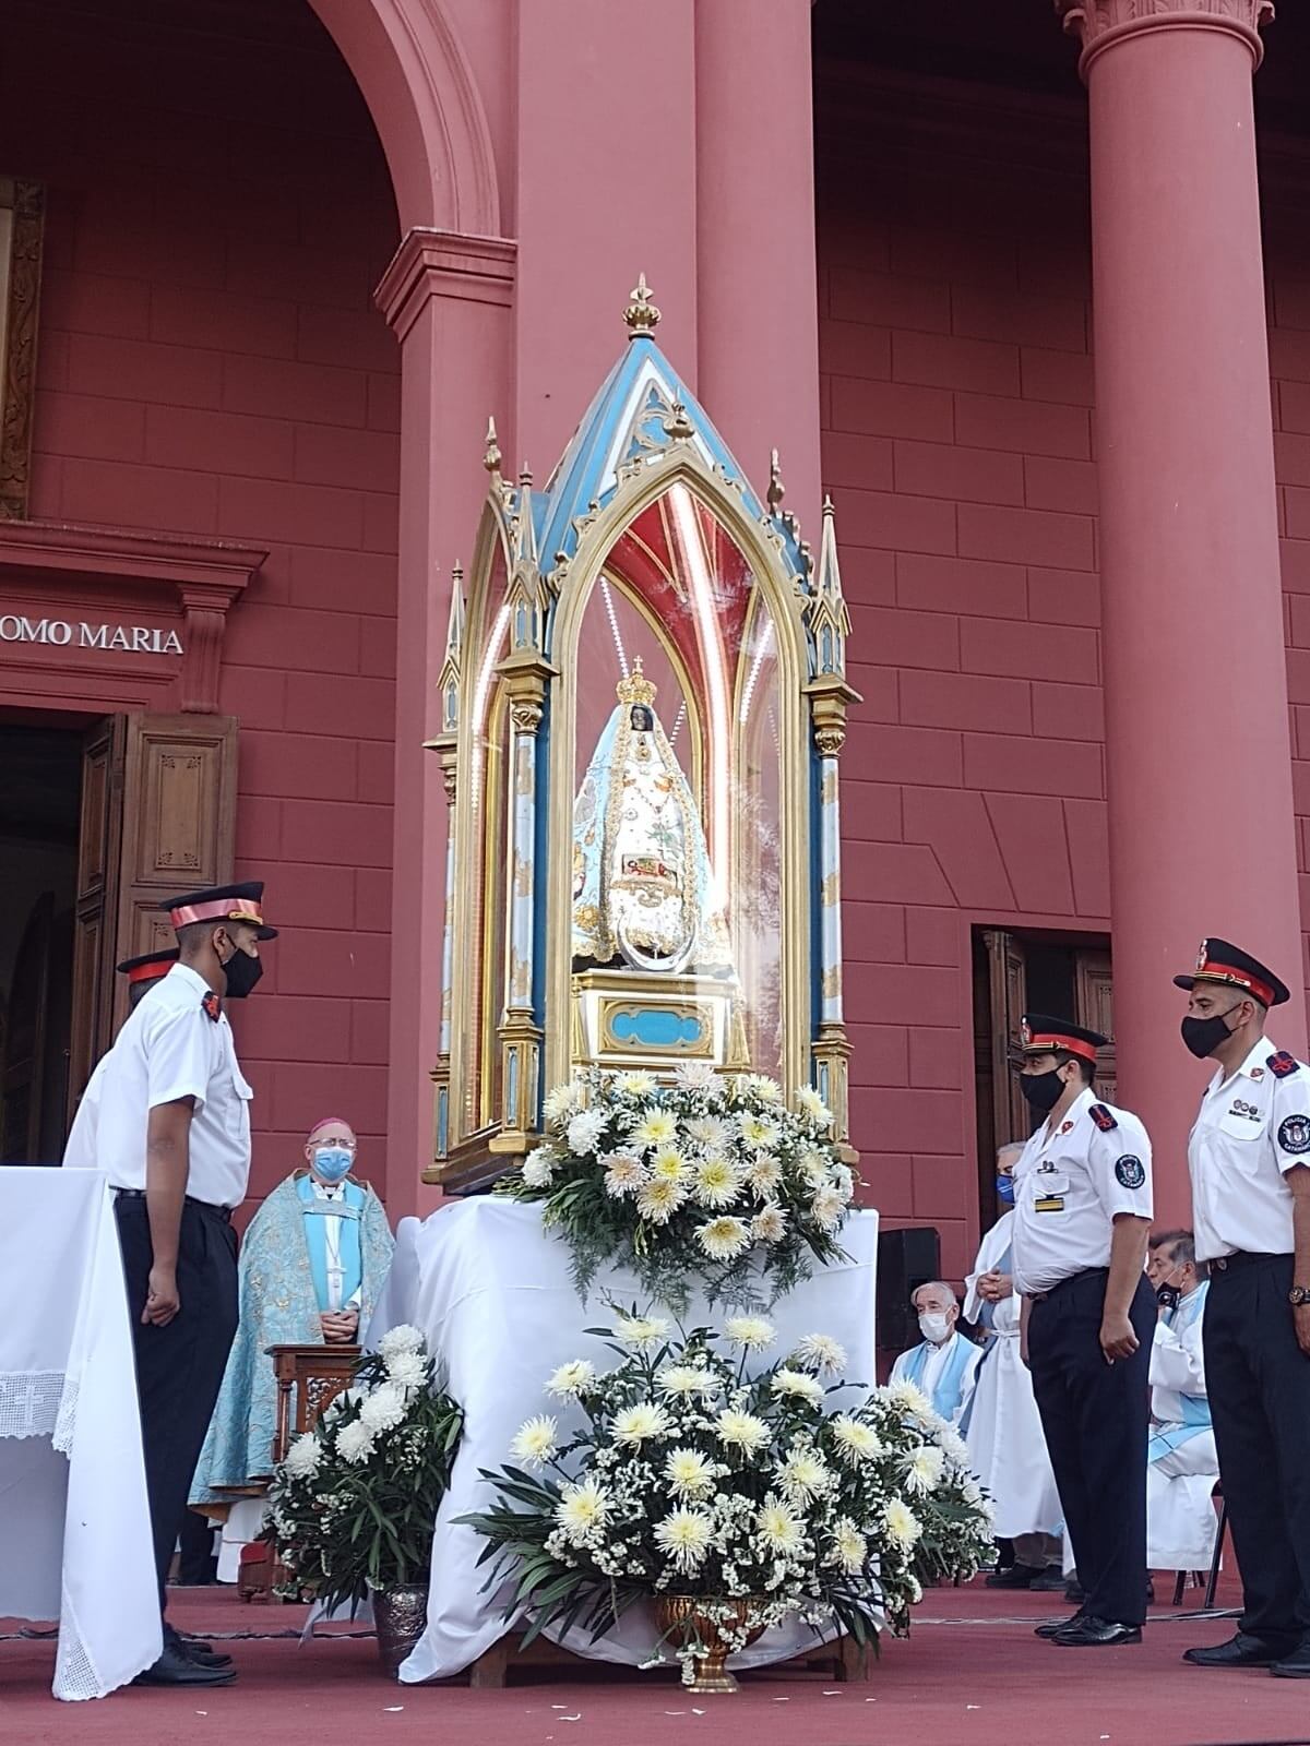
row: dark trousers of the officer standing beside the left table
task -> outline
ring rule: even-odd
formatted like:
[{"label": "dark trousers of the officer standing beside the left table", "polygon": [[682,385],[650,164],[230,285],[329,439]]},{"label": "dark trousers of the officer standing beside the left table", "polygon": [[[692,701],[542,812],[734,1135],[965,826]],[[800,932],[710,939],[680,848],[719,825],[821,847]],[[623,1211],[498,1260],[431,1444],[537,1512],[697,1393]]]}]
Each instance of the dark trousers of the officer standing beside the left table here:
[{"label": "dark trousers of the officer standing beside the left table", "polygon": [[159,1610],[182,1533],[196,1461],[236,1337],[236,1231],[211,1208],[187,1201],[178,1241],[178,1301],[168,1327],[141,1322],[150,1280],[150,1222],[145,1200],[115,1201],[128,1311],[136,1346],[145,1486],[159,1575]]}]

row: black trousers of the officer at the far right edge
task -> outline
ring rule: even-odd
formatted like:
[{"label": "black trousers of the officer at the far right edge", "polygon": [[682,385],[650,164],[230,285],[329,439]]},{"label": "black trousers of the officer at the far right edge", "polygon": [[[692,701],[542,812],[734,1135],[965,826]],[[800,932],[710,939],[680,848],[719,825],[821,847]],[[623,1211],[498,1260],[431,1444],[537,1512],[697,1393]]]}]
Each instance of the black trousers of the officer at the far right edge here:
[{"label": "black trousers of the officer at the far right edge", "polygon": [[1210,1268],[1202,1329],[1242,1631],[1289,1648],[1310,1636],[1310,1358],[1291,1285],[1291,1255],[1230,1257]]}]

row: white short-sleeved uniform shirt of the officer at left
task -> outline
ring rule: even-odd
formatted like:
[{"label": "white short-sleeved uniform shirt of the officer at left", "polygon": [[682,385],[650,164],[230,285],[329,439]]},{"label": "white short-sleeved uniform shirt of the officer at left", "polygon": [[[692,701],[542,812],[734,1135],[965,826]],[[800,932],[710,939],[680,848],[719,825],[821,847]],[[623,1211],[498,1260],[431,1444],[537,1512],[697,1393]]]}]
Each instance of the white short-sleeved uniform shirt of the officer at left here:
[{"label": "white short-sleeved uniform shirt of the officer at left", "polygon": [[143,1189],[150,1110],[190,1096],[196,1105],[187,1194],[211,1206],[238,1206],[245,1200],[253,1091],[238,1067],[227,1014],[213,1020],[203,1006],[208,993],[203,976],[175,964],[128,1014],[93,1076],[100,1081],[98,1109],[89,1117],[94,1158],[87,1156],[75,1123],[70,1135],[75,1156],[65,1154],[65,1161],[94,1161],[114,1187]]}]

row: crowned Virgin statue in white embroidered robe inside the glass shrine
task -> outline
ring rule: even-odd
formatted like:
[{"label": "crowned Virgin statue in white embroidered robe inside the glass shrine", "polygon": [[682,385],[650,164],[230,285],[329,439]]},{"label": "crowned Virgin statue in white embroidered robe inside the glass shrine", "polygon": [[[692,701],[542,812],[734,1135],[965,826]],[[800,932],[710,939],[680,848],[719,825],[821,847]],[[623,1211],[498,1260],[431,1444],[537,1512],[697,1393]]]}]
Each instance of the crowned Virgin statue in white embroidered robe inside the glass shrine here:
[{"label": "crowned Virgin statue in white embroidered robe inside the glass shrine", "polygon": [[662,974],[728,971],[700,814],[639,660],[617,691],[573,803],[573,957]]}]

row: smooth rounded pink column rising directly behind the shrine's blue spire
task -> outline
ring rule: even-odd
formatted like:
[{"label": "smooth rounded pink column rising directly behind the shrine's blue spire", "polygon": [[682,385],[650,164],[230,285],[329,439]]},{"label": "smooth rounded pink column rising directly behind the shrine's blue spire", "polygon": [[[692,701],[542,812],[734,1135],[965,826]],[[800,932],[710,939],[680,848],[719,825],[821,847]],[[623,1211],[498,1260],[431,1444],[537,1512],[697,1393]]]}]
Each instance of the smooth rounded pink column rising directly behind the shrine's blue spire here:
[{"label": "smooth rounded pink column rising directly behind the shrine's blue spire", "polygon": [[697,0],[699,395],[758,491],[781,450],[786,506],[817,548],[810,89],[810,0]]}]

